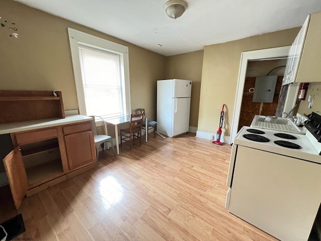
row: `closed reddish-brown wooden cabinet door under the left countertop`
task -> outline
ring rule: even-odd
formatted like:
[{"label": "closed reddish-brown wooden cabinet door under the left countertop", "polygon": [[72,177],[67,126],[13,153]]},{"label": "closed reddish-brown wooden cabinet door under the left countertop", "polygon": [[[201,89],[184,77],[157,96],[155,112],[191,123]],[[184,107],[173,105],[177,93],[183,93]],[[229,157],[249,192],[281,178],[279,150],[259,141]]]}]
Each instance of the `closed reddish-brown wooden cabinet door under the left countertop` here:
[{"label": "closed reddish-brown wooden cabinet door under the left countertop", "polygon": [[64,139],[70,170],[96,160],[92,131],[67,135]]}]

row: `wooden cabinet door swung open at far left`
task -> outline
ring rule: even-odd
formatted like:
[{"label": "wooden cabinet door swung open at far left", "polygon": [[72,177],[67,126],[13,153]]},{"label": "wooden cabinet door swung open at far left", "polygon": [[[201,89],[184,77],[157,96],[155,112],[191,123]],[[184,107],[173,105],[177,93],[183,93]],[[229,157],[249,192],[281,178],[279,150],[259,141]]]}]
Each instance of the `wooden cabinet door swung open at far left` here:
[{"label": "wooden cabinet door swung open at far left", "polygon": [[20,148],[16,147],[4,158],[5,169],[16,208],[21,205],[22,199],[28,190],[26,169],[22,160]]}]

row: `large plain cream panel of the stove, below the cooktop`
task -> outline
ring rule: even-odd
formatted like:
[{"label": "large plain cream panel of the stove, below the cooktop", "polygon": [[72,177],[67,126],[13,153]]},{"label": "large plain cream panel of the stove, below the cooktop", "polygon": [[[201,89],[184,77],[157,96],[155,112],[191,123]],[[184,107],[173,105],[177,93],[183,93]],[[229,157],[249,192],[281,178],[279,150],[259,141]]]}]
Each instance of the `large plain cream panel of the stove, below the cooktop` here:
[{"label": "large plain cream panel of the stove, below the cooktop", "polygon": [[320,173],[320,164],[238,145],[229,212],[280,240],[307,240]]}]

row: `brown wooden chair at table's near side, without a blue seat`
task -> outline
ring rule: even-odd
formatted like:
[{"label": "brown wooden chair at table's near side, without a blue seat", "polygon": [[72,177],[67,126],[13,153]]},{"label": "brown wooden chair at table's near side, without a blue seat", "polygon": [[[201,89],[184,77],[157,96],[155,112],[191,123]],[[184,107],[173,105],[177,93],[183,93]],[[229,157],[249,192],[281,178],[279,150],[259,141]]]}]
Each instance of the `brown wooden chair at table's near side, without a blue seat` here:
[{"label": "brown wooden chair at table's near side, without a blue seat", "polygon": [[[142,113],[140,114],[130,114],[129,128],[120,129],[120,147],[122,147],[122,141],[128,141],[131,150],[131,140],[139,138],[139,146],[141,146],[141,123],[142,123]],[[127,135],[129,134],[129,136]]]}]

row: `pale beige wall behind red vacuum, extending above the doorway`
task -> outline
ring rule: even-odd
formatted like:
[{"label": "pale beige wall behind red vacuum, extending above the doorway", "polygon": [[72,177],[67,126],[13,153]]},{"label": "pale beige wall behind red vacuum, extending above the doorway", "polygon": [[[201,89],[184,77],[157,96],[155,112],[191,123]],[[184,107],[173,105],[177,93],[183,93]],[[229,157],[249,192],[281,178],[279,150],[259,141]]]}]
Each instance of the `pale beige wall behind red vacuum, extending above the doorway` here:
[{"label": "pale beige wall behind red vacuum, extending above the doorway", "polygon": [[241,53],[291,45],[298,31],[294,28],[205,46],[198,131],[216,133],[226,104],[223,134],[230,136]]}]

